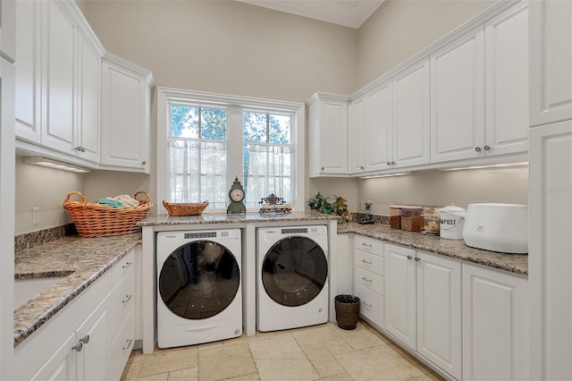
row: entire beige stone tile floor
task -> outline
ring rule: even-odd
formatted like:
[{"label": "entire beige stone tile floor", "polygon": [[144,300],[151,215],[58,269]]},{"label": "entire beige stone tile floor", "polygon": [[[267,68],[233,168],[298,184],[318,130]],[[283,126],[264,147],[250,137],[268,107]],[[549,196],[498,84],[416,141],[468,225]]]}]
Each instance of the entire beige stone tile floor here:
[{"label": "entire beige stone tile floor", "polygon": [[334,323],[242,335],[188,347],[133,351],[122,380],[440,380],[437,374],[360,323]]}]

